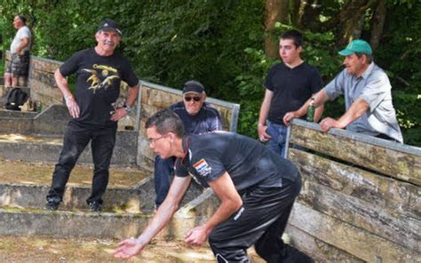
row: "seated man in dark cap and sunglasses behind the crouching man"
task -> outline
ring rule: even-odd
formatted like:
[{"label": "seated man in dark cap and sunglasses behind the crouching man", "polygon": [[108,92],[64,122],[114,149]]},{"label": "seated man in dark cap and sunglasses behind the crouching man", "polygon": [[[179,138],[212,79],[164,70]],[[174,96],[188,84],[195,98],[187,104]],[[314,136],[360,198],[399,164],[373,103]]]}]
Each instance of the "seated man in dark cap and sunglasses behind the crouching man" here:
[{"label": "seated man in dark cap and sunglasses behind the crouching man", "polygon": [[[203,84],[190,80],[184,84],[183,101],[171,105],[171,110],[182,120],[187,134],[222,130],[218,110],[206,103]],[[167,196],[171,185],[171,172],[175,158],[155,158],[155,204],[158,208]]]}]

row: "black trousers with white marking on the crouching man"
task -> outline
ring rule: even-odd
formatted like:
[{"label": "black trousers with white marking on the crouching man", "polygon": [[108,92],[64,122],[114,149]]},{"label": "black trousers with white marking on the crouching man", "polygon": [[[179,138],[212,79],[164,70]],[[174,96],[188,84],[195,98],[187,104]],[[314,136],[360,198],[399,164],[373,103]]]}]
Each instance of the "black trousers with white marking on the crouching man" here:
[{"label": "black trousers with white marking on the crouching man", "polygon": [[298,176],[296,181],[282,179],[282,187],[255,187],[242,195],[242,208],[215,227],[209,237],[217,261],[249,262],[246,250],[254,244],[267,262],[300,262],[288,259],[290,251],[297,250],[281,238],[300,188]]}]

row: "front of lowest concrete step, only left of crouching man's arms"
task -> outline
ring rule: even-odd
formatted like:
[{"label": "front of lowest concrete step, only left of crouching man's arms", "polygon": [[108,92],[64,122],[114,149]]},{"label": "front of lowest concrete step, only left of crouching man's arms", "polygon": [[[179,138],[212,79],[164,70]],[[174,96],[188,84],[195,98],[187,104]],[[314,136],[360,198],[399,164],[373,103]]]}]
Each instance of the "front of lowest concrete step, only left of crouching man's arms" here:
[{"label": "front of lowest concrete step, only left of crouching man's arms", "polygon": [[133,213],[0,209],[0,235],[125,238],[139,235],[149,218]]}]

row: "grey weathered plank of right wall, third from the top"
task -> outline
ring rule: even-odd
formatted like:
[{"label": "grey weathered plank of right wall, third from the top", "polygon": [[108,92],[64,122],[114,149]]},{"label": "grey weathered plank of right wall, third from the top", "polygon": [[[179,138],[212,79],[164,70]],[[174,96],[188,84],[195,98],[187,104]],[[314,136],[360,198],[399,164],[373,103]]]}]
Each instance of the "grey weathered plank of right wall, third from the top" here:
[{"label": "grey weathered plank of right wall, third from the top", "polygon": [[421,252],[421,221],[306,181],[299,202],[332,218],[360,227],[391,242]]}]

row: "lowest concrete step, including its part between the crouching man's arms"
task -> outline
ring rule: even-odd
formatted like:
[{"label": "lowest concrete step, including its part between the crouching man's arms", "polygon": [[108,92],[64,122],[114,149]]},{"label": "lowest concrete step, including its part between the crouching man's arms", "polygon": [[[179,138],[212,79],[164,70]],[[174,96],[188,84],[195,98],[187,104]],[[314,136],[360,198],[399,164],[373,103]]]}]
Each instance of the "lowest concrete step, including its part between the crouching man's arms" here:
[{"label": "lowest concrete step, including its part between the crouching man's arms", "polygon": [[[192,188],[192,187],[190,187]],[[139,189],[139,192],[142,191]],[[158,239],[182,239],[187,231],[209,217],[213,204],[197,194],[184,199],[171,222]],[[72,196],[73,197],[73,196]],[[118,196],[115,196],[118,197]],[[187,203],[188,199],[193,199]],[[142,201],[142,196],[138,199]],[[204,202],[203,202],[204,201]],[[40,208],[0,207],[0,235],[48,235],[53,237],[124,238],[137,236],[153,216],[153,210],[114,210],[91,212],[86,208],[72,211],[44,211]]]}]

